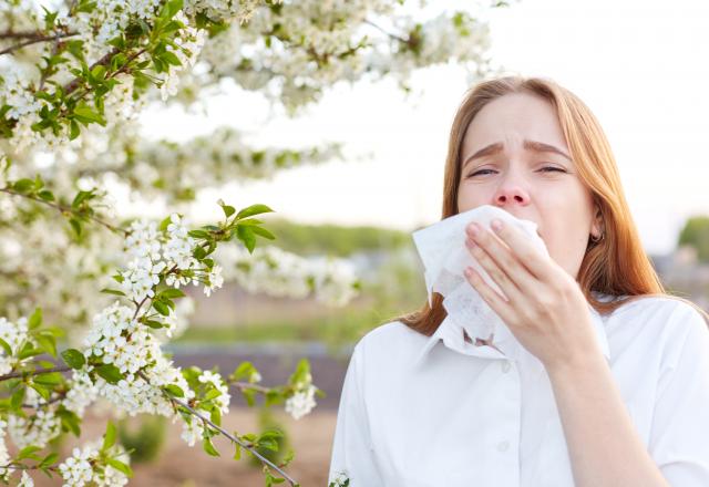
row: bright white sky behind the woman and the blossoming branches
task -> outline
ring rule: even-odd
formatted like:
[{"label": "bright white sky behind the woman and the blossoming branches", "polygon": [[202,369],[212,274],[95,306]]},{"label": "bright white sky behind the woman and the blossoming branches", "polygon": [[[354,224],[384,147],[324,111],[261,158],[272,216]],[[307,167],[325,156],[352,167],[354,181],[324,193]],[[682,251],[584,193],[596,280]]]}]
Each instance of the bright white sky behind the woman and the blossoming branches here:
[{"label": "bright white sky behind the woman and the blossoming branches", "polygon": [[[709,2],[522,0],[486,18],[495,65],[551,77],[590,107],[646,251],[671,251],[688,217],[709,215]],[[148,136],[188,139],[232,125],[256,146],[343,142],[353,156],[205,191],[198,218],[218,218],[223,198],[300,222],[413,231],[440,219],[448,133],[469,86],[450,65],[415,72],[412,85],[407,96],[393,81],[338,84],[295,120],[232,91],[209,101],[208,116],[169,107],[142,122]]]}]

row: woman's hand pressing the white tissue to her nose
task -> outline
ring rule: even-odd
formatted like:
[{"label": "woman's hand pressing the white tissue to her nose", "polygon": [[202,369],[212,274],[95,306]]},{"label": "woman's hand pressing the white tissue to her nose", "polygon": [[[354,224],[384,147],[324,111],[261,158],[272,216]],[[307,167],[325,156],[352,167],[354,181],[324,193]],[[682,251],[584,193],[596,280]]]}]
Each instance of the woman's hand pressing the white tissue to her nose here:
[{"label": "woman's hand pressing the white tissue to her nose", "polygon": [[465,276],[520,343],[547,371],[585,363],[602,354],[578,283],[554,260],[540,253],[518,228],[503,224],[500,230],[494,226],[493,230],[494,234],[477,224],[469,225],[466,245],[508,300],[487,286],[472,267],[465,269]]}]

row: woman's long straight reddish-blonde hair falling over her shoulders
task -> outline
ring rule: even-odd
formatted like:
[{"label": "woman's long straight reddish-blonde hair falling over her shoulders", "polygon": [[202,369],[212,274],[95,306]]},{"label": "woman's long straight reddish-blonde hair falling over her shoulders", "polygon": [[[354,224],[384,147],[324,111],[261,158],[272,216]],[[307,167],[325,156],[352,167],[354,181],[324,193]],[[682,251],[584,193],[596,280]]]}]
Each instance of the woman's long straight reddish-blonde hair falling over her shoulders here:
[{"label": "woman's long straight reddish-blonde hair falling over her shoulders", "polygon": [[[577,282],[588,303],[599,313],[639,298],[664,297],[684,301],[697,309],[709,324],[709,314],[693,302],[665,291],[640,242],[628,204],[623,194],[620,175],[600,124],[574,93],[554,81],[541,77],[503,76],[483,81],[470,89],[460,104],[449,137],[443,183],[441,219],[458,214],[458,187],[461,179],[461,147],[471,121],[487,103],[512,93],[541,96],[552,104],[558,116],[576,168],[593,191],[600,208],[605,238],[590,238],[580,265]],[[599,301],[597,291],[625,299]],[[427,301],[420,310],[388,321],[401,321],[411,329],[431,335],[445,318],[443,297],[434,292],[432,307]]]}]

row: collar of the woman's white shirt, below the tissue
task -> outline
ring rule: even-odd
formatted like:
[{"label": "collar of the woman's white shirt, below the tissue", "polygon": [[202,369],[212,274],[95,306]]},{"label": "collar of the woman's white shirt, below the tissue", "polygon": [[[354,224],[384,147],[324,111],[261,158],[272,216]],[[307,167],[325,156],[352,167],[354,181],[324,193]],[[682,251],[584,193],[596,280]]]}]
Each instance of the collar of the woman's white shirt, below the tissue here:
[{"label": "collar of the woman's white shirt, below the tissue", "polygon": [[[602,300],[605,297],[605,294],[599,294],[595,291],[592,292],[596,294],[596,297],[600,296]],[[606,335],[606,319],[600,313],[598,313],[598,311],[596,311],[596,309],[590,304],[588,304],[588,310],[590,312],[594,330],[596,331],[596,338],[600,346],[600,352],[606,358],[606,360],[609,361],[610,348],[608,346],[608,336]],[[454,321],[450,320],[446,315],[439,328],[435,330],[435,332],[424,342],[419,353],[417,353],[413,362],[414,365],[419,365],[440,341],[442,341],[443,344],[449,349],[466,355],[474,355],[484,359],[506,359],[506,356],[502,352],[493,349],[492,346],[477,346],[466,342],[463,336],[463,329],[455,325]]]}]

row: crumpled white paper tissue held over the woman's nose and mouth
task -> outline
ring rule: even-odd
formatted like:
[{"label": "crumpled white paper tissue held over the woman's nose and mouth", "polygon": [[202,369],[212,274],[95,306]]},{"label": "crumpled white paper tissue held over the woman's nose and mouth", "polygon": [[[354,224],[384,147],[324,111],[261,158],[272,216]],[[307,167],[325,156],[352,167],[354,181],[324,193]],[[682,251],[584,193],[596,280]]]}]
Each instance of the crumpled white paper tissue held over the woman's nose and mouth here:
[{"label": "crumpled white paper tissue held over the woman's nose and mouth", "polygon": [[505,355],[518,356],[522,345],[463,273],[466,267],[472,267],[491,288],[506,299],[504,292],[465,247],[465,227],[471,221],[476,221],[490,230],[490,224],[495,218],[507,226],[521,229],[540,253],[551,258],[534,221],[518,219],[492,205],[473,208],[417,230],[412,234],[413,241],[425,269],[429,305],[432,305],[433,291],[439,292],[444,297],[443,308],[449,319],[464,329],[473,342],[476,338],[492,339],[492,343],[502,349]]}]

